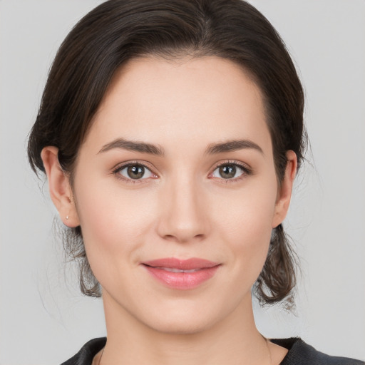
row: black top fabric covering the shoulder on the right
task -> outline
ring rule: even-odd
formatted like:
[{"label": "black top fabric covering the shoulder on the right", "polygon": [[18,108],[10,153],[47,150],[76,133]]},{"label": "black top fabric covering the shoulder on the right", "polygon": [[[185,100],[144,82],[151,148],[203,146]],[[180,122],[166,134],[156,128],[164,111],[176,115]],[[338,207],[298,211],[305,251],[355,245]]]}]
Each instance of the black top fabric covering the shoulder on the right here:
[{"label": "black top fabric covering the shoulder on the right", "polygon": [[365,365],[364,361],[323,354],[299,338],[271,341],[289,350],[281,365]]}]

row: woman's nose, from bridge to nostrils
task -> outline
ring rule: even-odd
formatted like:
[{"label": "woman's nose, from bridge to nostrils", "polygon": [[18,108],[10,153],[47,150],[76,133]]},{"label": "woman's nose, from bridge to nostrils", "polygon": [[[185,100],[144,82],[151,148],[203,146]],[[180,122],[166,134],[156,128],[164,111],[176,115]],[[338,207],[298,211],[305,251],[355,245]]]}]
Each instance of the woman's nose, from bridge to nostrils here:
[{"label": "woman's nose, from bridge to nostrils", "polygon": [[158,235],[174,242],[203,240],[210,230],[202,187],[193,179],[171,181],[161,192]]}]

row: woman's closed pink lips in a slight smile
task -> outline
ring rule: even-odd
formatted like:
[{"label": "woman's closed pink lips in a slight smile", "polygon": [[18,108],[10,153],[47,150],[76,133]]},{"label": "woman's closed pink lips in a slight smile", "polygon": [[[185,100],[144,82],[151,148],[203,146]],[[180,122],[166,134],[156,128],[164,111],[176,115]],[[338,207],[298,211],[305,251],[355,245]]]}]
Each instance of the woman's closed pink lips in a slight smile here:
[{"label": "woman's closed pink lips in a slight smile", "polygon": [[220,264],[207,259],[174,257],[142,262],[148,272],[173,289],[193,289],[214,276]]}]

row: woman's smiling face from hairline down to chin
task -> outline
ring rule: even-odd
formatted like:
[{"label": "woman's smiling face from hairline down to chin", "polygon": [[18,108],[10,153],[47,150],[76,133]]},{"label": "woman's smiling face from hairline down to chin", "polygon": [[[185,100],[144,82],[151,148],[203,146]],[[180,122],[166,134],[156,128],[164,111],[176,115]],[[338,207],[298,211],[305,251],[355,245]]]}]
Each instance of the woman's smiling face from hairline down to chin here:
[{"label": "woman's smiling face from hairline down to chin", "polygon": [[71,218],[107,315],[186,333],[250,308],[285,189],[260,91],[239,66],[130,61],[81,145],[73,185]]}]

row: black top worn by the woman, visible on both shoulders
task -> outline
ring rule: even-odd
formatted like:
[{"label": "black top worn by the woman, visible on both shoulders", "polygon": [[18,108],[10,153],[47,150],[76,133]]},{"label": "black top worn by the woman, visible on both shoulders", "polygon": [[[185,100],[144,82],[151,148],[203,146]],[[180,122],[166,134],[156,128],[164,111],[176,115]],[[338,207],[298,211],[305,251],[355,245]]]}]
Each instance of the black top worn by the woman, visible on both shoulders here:
[{"label": "black top worn by the woman, visible on both shoulders", "polygon": [[[288,349],[280,365],[365,365],[364,361],[329,356],[307,345],[302,339],[272,339],[274,344]],[[106,337],[92,339],[78,353],[61,365],[91,365],[93,357],[106,345]]]}]

